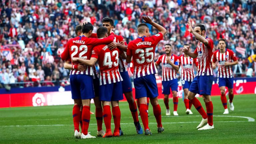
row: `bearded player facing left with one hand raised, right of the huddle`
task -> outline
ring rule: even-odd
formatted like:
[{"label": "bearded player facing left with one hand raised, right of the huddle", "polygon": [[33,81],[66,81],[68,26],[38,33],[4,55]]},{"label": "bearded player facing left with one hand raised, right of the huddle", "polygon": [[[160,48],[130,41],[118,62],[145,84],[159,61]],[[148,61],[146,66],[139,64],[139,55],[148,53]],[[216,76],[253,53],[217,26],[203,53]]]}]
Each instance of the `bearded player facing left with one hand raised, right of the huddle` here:
[{"label": "bearded player facing left with one hand raised, right of the huddle", "polygon": [[[205,37],[206,29],[204,25],[199,24],[193,30],[191,22],[188,22],[187,24],[189,26],[188,31],[196,37],[196,40],[199,41],[194,53],[189,52],[189,48],[187,47],[182,50],[189,57],[198,59],[198,72],[189,87],[188,99],[203,117],[201,123],[197,126],[197,129],[213,129],[213,105],[211,101],[211,89],[213,82],[213,41],[212,39]],[[197,93],[203,95],[207,114],[205,113],[200,101],[195,97]]]}]

